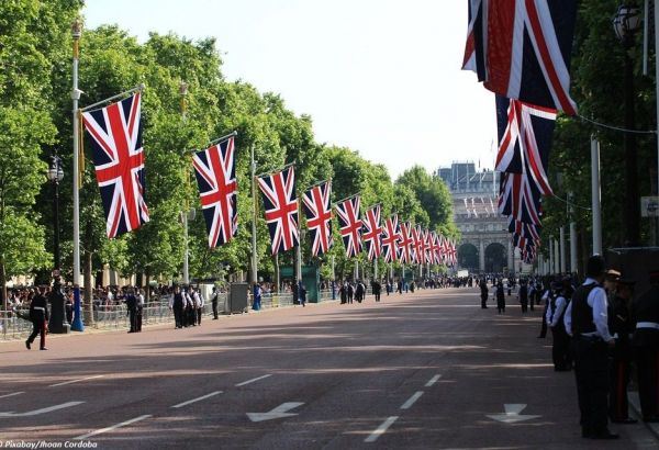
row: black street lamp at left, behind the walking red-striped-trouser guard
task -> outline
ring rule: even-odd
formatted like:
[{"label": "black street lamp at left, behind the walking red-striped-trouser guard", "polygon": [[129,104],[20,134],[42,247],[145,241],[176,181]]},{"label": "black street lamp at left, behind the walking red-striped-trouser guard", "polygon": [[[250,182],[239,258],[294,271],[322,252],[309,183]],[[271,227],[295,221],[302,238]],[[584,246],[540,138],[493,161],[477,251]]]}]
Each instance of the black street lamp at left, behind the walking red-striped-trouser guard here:
[{"label": "black street lamp at left, behind the walking red-striped-trouser guard", "polygon": [[66,322],[64,295],[62,294],[62,284],[59,282],[59,182],[64,179],[64,170],[62,170],[62,159],[57,155],[57,151],[51,155],[47,177],[53,183],[53,256],[55,259],[48,329],[54,334],[66,334],[69,331],[70,325]]}]

